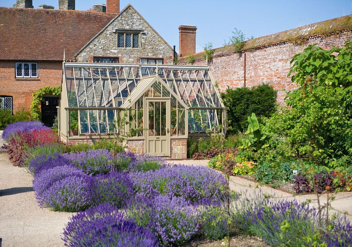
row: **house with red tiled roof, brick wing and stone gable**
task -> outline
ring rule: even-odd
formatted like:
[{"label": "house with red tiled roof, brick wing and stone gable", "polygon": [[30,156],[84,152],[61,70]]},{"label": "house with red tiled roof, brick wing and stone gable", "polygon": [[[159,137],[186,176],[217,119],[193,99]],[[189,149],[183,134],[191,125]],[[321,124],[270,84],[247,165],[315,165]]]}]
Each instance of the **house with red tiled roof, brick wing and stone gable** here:
[{"label": "house with red tiled roof, brick wing and stone gable", "polygon": [[[119,0],[87,11],[76,11],[75,0],[59,0],[59,10],[17,0],[13,8],[0,7],[0,33],[0,106],[14,112],[30,110],[40,88],[61,85],[64,53],[81,63],[172,64],[177,56],[132,5],[120,11]],[[46,125],[52,125],[57,104],[58,96],[44,97]]]}]

